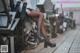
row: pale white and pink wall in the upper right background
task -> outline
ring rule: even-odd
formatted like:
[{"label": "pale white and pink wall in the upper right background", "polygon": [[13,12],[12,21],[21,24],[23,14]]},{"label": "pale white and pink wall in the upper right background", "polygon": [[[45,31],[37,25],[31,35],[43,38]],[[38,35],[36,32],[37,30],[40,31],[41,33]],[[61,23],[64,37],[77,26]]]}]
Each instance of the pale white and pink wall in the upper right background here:
[{"label": "pale white and pink wall in the upper right background", "polygon": [[76,24],[80,24],[80,0],[52,0],[56,7],[64,9],[64,11],[74,11],[74,19]]}]

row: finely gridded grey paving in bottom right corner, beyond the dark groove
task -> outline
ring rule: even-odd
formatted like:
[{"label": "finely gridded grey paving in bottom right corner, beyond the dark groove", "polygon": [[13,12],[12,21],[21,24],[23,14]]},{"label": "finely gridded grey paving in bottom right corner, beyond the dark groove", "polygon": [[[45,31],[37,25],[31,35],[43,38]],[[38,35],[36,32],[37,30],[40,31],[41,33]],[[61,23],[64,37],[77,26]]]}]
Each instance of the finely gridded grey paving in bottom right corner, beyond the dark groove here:
[{"label": "finely gridded grey paving in bottom right corner, beyond the dark groove", "polygon": [[69,50],[69,53],[80,53],[80,31],[76,35],[71,48]]}]

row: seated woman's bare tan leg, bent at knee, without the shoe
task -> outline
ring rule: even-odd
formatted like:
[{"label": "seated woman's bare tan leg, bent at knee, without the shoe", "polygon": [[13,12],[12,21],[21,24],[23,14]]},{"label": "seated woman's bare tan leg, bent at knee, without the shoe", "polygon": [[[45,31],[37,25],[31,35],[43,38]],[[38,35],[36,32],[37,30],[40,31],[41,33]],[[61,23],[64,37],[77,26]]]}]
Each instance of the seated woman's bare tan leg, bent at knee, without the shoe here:
[{"label": "seated woman's bare tan leg, bent at knee, without the shoe", "polygon": [[39,11],[31,11],[30,14],[28,14],[32,17],[38,17],[38,31],[44,34],[44,37],[47,39],[47,32],[44,26],[44,15],[43,13]]}]

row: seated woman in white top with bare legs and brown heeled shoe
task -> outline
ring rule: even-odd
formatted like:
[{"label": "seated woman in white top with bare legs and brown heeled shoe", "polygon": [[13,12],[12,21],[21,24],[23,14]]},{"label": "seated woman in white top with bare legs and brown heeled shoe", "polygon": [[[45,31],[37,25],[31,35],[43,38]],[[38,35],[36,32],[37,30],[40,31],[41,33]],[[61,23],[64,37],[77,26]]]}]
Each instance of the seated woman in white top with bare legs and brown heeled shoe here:
[{"label": "seated woman in white top with bare legs and brown heeled shoe", "polygon": [[45,38],[44,47],[47,47],[47,46],[55,47],[56,44],[55,43],[53,44],[53,43],[51,43],[49,41],[49,38],[47,36],[47,32],[46,32],[46,30],[44,28],[44,16],[43,16],[43,13],[41,13],[39,10],[35,10],[34,7],[31,6],[31,1],[30,0],[21,0],[21,5],[20,5],[21,7],[22,7],[24,2],[27,2],[26,14],[28,16],[33,17],[33,19],[38,19],[38,31],[43,33],[44,34],[44,38]]}]

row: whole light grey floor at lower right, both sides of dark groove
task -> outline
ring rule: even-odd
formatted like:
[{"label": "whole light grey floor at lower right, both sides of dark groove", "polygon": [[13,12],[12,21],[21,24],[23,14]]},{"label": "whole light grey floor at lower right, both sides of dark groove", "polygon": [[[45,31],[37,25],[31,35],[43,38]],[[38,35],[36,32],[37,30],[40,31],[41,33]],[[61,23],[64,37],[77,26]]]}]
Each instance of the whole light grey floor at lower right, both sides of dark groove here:
[{"label": "whole light grey floor at lower right, both sides of dark groove", "polygon": [[80,29],[68,33],[68,38],[53,53],[80,53]]}]

